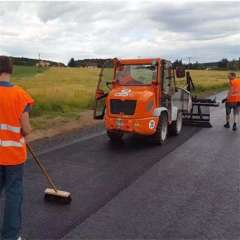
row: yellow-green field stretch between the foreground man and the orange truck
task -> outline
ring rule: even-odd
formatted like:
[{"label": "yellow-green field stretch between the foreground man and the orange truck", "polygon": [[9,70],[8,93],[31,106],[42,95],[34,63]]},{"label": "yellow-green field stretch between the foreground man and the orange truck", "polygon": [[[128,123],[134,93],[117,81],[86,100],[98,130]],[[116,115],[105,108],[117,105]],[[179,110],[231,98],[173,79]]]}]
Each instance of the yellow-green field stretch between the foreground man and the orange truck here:
[{"label": "yellow-green field stretch between the foreground man and the orange truck", "polygon": [[[26,77],[24,77],[26,71]],[[17,68],[13,82],[36,100],[31,113],[34,128],[79,119],[83,110],[93,106],[98,69],[49,68],[39,73],[35,68]]]}]

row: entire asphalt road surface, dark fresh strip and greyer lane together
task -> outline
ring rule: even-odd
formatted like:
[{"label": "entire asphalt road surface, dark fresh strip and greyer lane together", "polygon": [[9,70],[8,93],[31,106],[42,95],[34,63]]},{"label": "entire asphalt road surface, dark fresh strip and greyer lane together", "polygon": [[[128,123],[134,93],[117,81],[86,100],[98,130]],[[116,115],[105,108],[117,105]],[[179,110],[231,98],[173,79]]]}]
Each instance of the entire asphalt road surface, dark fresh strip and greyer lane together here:
[{"label": "entire asphalt road surface, dark fresh strip and greyer lane together", "polygon": [[72,193],[71,205],[43,201],[46,181],[32,161],[25,175],[27,239],[240,239],[240,132],[185,127],[164,146],[94,135],[41,154]]}]

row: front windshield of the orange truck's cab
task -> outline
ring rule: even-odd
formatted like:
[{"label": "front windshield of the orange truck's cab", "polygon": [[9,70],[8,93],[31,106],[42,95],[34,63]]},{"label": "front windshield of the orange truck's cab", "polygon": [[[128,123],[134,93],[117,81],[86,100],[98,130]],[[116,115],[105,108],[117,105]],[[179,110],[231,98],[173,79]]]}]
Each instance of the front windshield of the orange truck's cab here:
[{"label": "front windshield of the orange truck's cab", "polygon": [[150,85],[156,80],[157,67],[154,65],[121,65],[116,71],[120,85]]}]

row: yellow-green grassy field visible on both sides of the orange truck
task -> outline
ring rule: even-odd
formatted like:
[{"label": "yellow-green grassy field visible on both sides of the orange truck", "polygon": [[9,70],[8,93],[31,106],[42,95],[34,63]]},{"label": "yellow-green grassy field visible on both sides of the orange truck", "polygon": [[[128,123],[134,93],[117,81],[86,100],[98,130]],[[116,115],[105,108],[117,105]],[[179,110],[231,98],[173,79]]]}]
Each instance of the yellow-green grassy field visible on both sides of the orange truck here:
[{"label": "yellow-green grassy field visible on both sides of the orange truck", "polygon": [[[26,89],[36,100],[31,121],[36,129],[58,126],[77,120],[80,113],[91,109],[99,69],[16,67],[13,82]],[[228,86],[226,71],[192,70],[196,95],[207,95]],[[185,80],[178,79],[184,86]]]}]

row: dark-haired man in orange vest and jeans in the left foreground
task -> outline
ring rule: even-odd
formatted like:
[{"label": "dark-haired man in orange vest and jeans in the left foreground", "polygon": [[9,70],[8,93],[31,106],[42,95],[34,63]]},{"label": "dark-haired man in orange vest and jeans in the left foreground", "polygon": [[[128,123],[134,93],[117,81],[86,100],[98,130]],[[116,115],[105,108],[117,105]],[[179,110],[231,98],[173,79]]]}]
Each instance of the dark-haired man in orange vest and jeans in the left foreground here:
[{"label": "dark-haired man in orange vest and jeans in the left foreground", "polygon": [[2,239],[21,239],[25,137],[31,132],[29,112],[34,100],[10,82],[13,66],[0,56],[0,193],[5,191]]}]

